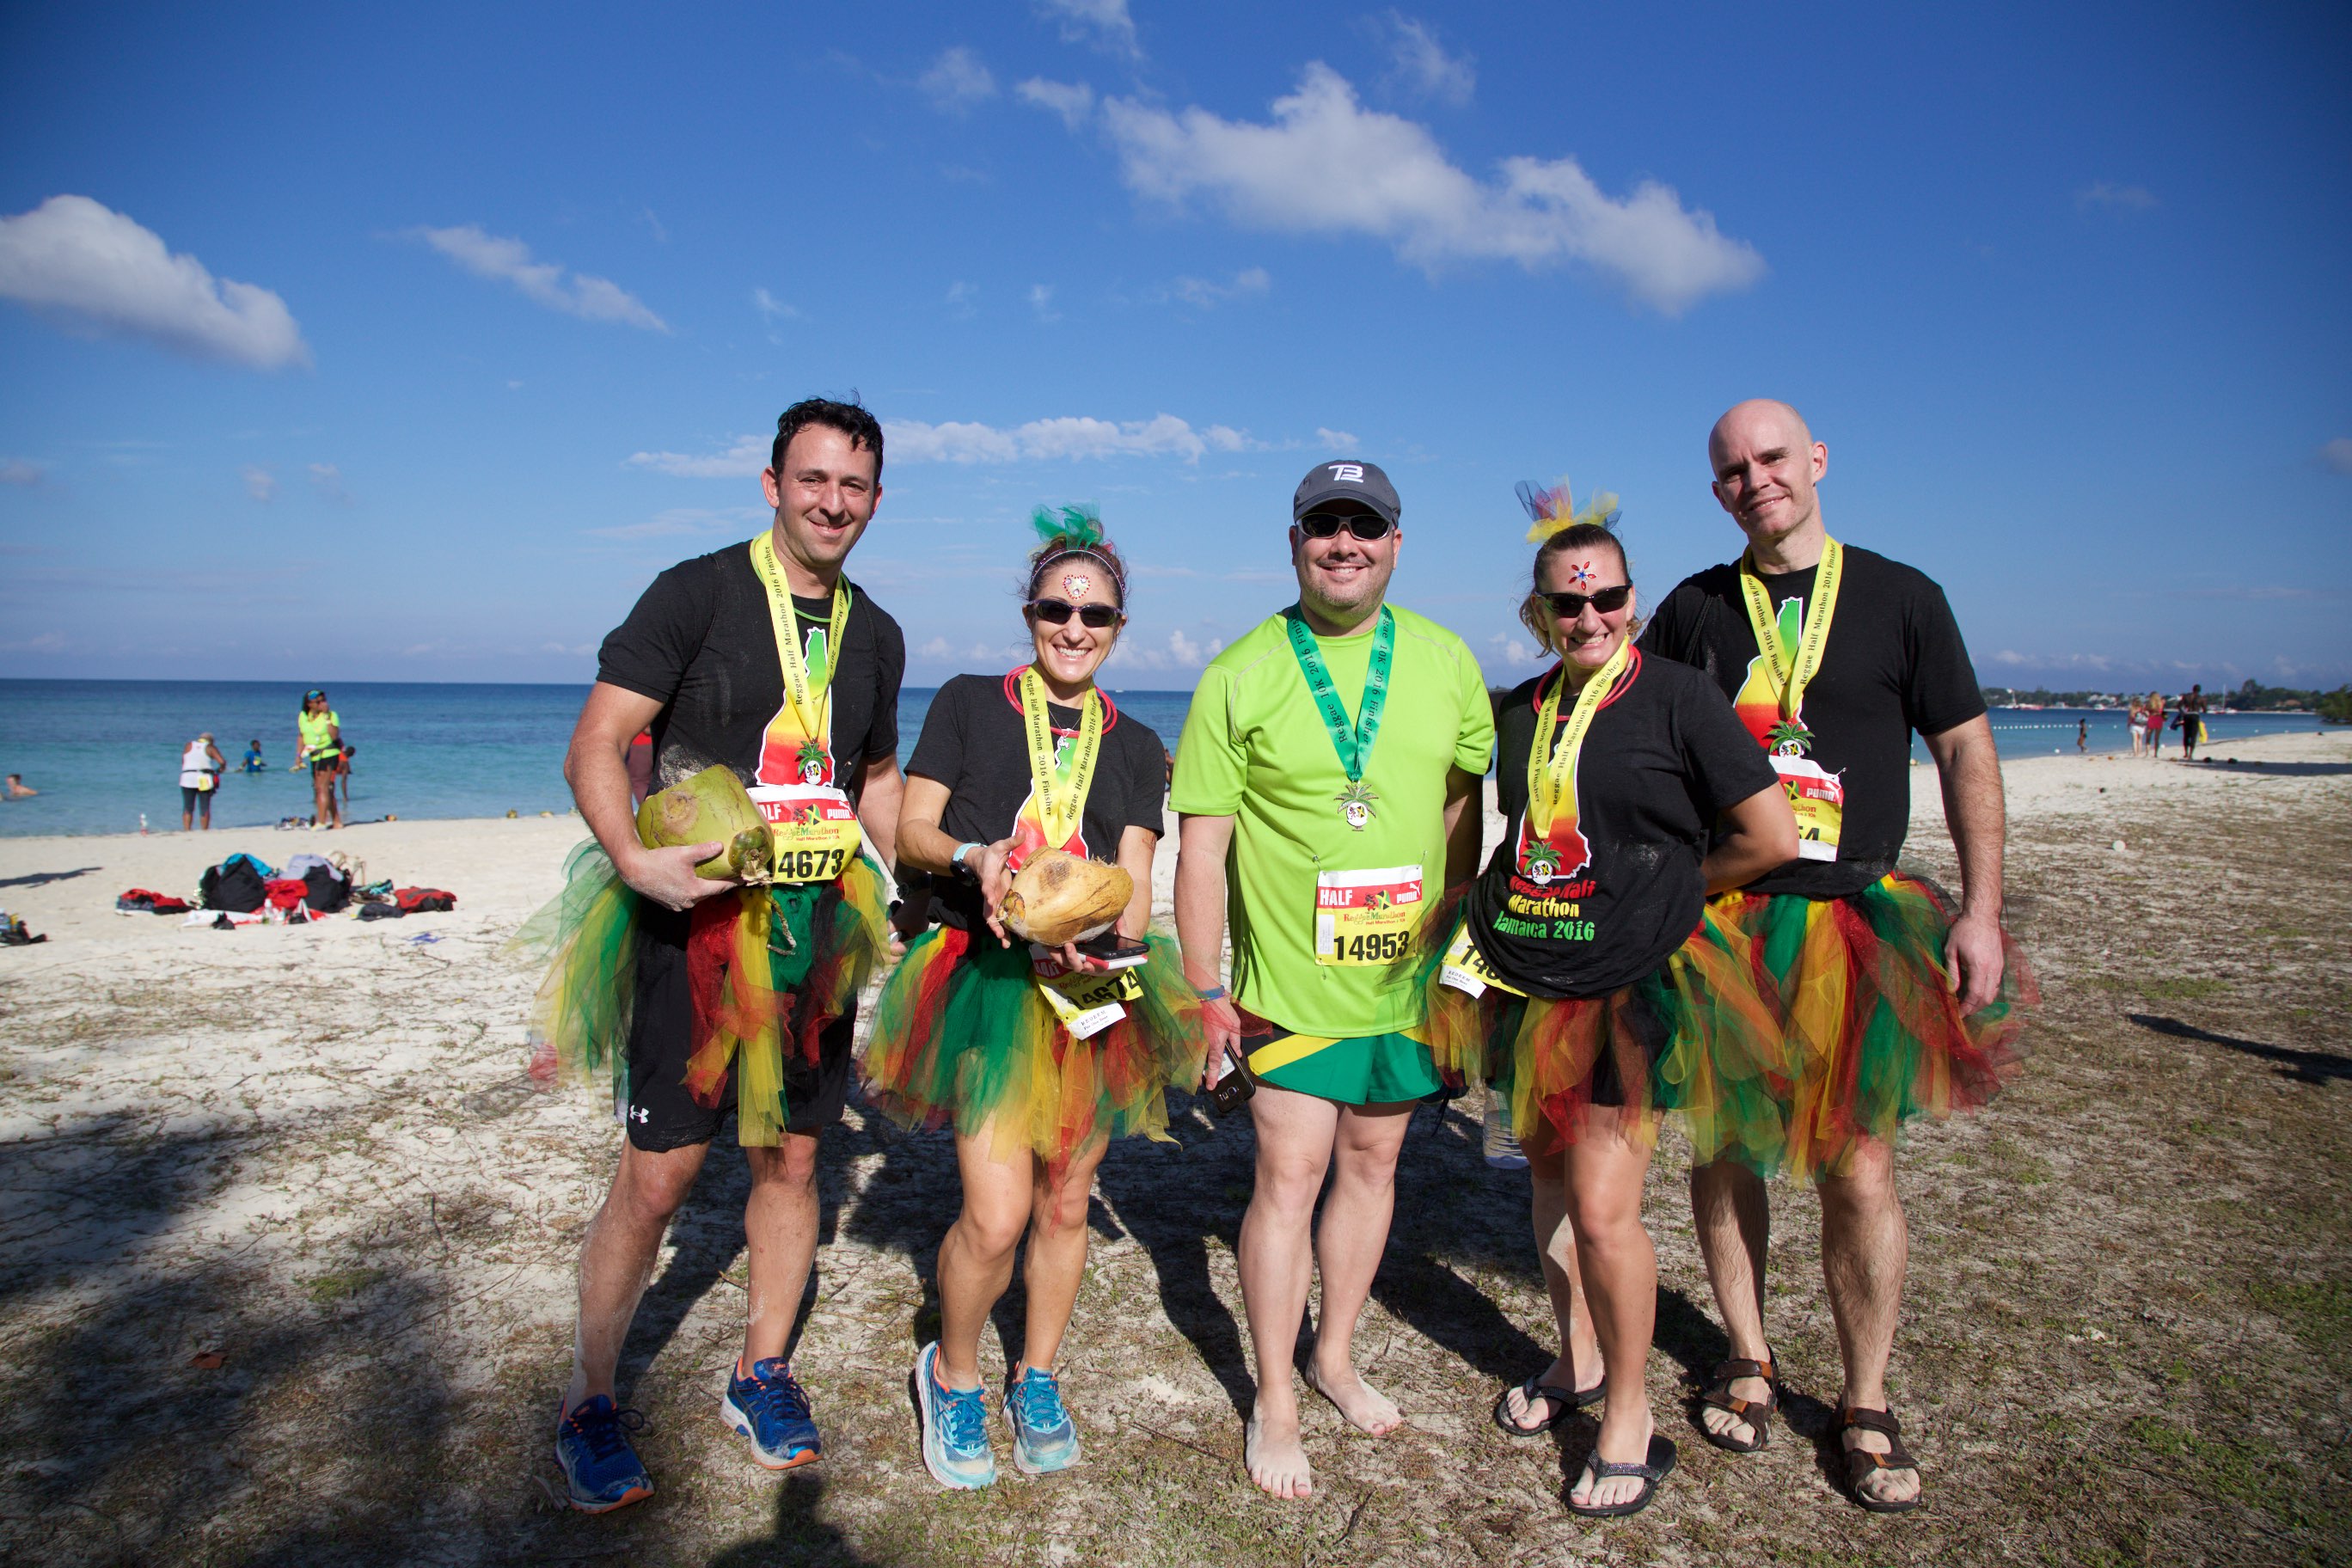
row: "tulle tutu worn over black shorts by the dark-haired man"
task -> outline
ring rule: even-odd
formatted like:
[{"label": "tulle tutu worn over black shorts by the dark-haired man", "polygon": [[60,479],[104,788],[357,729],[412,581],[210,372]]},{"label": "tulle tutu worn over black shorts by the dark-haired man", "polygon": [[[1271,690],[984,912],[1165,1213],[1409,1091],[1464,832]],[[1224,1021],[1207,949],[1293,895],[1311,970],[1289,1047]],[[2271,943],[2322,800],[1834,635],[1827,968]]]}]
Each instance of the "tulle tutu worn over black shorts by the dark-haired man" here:
[{"label": "tulle tutu worn over black shorts by the dark-haired man", "polygon": [[[534,1072],[553,1058],[562,1077],[609,1072],[621,1081],[642,900],[595,844],[572,853],[564,877],[555,903],[515,938],[515,947],[553,954],[532,1004]],[[694,905],[687,1091],[699,1105],[720,1105],[734,1067],[746,1147],[783,1143],[783,1053],[816,1063],[818,1034],[849,1011],[889,945],[887,907],[882,872],[863,856],[835,882],[739,889]]]}]

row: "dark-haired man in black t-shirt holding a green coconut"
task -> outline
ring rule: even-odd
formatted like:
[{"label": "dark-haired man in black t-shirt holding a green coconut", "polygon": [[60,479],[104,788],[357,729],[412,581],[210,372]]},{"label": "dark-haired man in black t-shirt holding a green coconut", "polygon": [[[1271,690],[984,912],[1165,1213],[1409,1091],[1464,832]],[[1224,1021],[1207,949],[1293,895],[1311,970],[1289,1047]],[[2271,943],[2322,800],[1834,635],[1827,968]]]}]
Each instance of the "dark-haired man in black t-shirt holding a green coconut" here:
[{"label": "dark-haired man in black t-shirt holding a green coconut", "polygon": [[[703,905],[706,914],[727,914],[720,900],[767,896],[696,875],[720,844],[644,849],[637,842],[630,741],[652,729],[654,790],[724,764],[750,785],[771,823],[797,823],[802,813],[818,820],[828,802],[847,802],[866,844],[884,865],[894,858],[906,788],[898,773],[906,639],[898,623],[842,576],[842,562],[882,501],[882,428],[856,404],[800,402],[776,421],[771,463],[762,484],[774,529],[748,548],[680,562],[654,578],[628,621],[604,639],[597,684],[564,757],[581,816],[621,879],[640,893],[621,1105],[628,1140],[581,1246],[572,1385],[555,1434],[572,1505],[593,1514],[652,1493],[628,1443],[628,1413],[612,1401],[614,1363],[663,1229],[736,1100],[739,1063],[724,1067],[724,1084],[703,1084],[701,1093],[687,1086],[699,1023],[689,971],[710,947],[696,940],[689,954],[687,938],[689,929],[713,924],[691,912]],[[781,642],[786,625],[790,646]],[[828,830],[847,827],[842,818],[828,820]],[[851,858],[835,884],[800,891],[793,907],[814,910],[804,914],[800,940],[816,940],[809,931],[840,907],[842,884],[861,870]],[[779,900],[779,922],[786,922],[783,907]],[[717,983],[708,990],[715,994]],[[807,997],[781,992],[781,1001],[797,1006]],[[769,1469],[818,1455],[807,1394],[783,1354],[816,1258],[816,1140],[847,1095],[854,1018],[811,1020],[811,1027],[818,1030],[814,1063],[790,1041],[781,1053],[790,1119],[762,1131],[776,1147],[743,1138],[753,1178],[743,1211],[750,1321],[720,1408],[750,1439],[753,1460]]]}]

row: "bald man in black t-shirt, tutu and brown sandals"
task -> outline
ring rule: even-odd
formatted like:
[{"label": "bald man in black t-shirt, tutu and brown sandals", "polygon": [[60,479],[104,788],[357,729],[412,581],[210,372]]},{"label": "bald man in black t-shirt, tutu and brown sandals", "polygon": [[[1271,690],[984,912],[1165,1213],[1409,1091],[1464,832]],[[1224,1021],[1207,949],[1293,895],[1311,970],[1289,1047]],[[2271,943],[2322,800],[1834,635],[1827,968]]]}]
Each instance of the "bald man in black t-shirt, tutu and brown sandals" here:
[{"label": "bald man in black t-shirt, tutu and brown sandals", "polygon": [[[1924,574],[1830,538],[1818,494],[1830,449],[1797,409],[1738,404],[1715,423],[1708,463],[1748,548],[1679,583],[1642,651],[1722,684],[1797,811],[1799,858],[1715,907],[1757,945],[1802,1063],[1773,1095],[1788,1119],[1783,1166],[1820,1190],[1846,1481],[1865,1509],[1896,1514],[1919,1505],[1919,1467],[1886,1401],[1910,1251],[1896,1133],[1999,1088],[2030,990],[2002,933],[2002,769],[1952,607]],[[1912,731],[1943,785],[1957,903],[1896,870]],[[1780,1399],[1764,1335],[1762,1178],[1729,1159],[1691,1171],[1731,1338],[1700,1420],[1733,1453],[1764,1448]]]}]

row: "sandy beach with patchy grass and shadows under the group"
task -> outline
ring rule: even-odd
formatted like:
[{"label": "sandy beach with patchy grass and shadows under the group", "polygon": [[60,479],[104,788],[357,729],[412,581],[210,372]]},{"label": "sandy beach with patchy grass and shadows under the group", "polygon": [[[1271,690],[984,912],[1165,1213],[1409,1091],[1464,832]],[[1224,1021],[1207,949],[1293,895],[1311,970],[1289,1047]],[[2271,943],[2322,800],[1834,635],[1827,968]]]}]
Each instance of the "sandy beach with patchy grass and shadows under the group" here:
[{"label": "sandy beach with patchy grass and shadows under the group", "polygon": [[[1367,1312],[1385,1441],[1315,1406],[1312,1502],[1240,1474],[1249,1373],[1232,1237],[1247,1126],[1103,1166],[1065,1380],[1089,1460],[943,1497],[903,1394],[955,1211],[941,1135],[851,1107],[823,1157],[802,1328],[826,1462],[748,1467],[715,1392],[741,1333],[741,1159],[720,1150],[623,1359],[659,1493],[555,1505],[572,1260],[619,1147],[609,1103],[541,1093],[536,976],[501,954],[576,818],[0,839],[0,1544],[19,1561],[677,1563],[2237,1563],[2352,1561],[2352,733],[2211,764],[2006,764],[2009,924],[2046,999],[2025,1077],[1905,1154],[1896,1354],[1931,1507],[1830,1483],[1835,1333],[1816,1206],[1783,1192],[1773,1328],[1795,1436],[1696,1439],[1722,1349],[1672,1135],[1651,1392],[1682,1472],[1599,1528],[1559,1495],[1590,1427],[1512,1443],[1503,1382],[1548,1359],[1524,1175],[1421,1112]],[[1907,863],[1957,877],[1933,769]],[[1171,823],[1174,827],[1174,823]],[[1501,823],[1489,813],[1489,844]],[[118,914],[230,851],[343,851],[456,910],[214,931]],[[1174,844],[1162,844],[1167,917]],[[1000,1326],[1018,1321],[1018,1295]],[[983,1366],[995,1363],[985,1347]],[[555,1490],[550,1490],[555,1488]]]}]

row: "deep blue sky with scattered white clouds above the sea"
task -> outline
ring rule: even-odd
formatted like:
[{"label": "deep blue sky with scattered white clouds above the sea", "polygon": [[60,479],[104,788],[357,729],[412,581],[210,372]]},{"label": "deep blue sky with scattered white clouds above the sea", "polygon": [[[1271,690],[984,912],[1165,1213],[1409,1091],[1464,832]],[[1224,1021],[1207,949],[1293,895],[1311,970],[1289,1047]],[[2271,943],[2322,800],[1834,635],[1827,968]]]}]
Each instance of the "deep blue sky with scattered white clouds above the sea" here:
[{"label": "deep blue sky with scattered white clouds above the sea", "polygon": [[1663,595],[1748,395],[1987,684],[2336,684],[2347,66],[2326,5],[7,7],[0,668],[588,679],[854,388],[924,684],[1077,498],[1112,684],[1190,684],[1322,456],[1524,675],[1512,484]]}]

